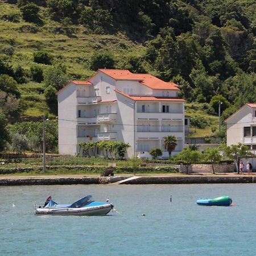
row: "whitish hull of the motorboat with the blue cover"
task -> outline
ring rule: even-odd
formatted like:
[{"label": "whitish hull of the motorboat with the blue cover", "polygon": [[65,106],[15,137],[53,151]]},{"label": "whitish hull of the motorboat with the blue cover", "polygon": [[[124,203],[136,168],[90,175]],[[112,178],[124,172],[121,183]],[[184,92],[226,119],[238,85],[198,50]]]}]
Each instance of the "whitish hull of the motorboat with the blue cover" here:
[{"label": "whitish hull of the motorboat with the blue cover", "polygon": [[106,215],[114,207],[113,204],[104,204],[93,207],[83,208],[38,208],[35,210],[35,214],[43,215],[78,215],[78,216],[94,216],[94,215]]}]

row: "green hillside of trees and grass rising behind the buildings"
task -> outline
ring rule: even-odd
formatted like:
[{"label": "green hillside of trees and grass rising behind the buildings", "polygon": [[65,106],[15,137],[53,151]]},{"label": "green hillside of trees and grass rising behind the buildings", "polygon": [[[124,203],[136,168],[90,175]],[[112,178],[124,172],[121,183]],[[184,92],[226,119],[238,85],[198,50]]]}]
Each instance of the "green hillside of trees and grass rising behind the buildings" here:
[{"label": "green hillside of trees and grass rising behind the buildings", "polygon": [[256,102],[255,9],[252,0],[0,1],[0,131],[6,118],[55,118],[68,81],[125,68],[179,84],[194,135],[212,134],[219,101],[222,120]]}]

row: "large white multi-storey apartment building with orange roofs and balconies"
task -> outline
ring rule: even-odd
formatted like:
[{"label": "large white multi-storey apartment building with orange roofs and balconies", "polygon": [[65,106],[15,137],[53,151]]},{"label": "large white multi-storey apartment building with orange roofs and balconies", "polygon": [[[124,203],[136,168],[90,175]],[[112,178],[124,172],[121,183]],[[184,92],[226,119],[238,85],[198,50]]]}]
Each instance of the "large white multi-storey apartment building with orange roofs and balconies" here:
[{"label": "large white multi-storey apartment building with orange roofs and balconies", "polygon": [[150,158],[163,137],[174,135],[174,154],[184,147],[184,100],[179,88],[149,74],[99,69],[87,81],[72,81],[57,93],[59,154],[79,154],[79,142],[117,140],[129,143],[129,158]]}]

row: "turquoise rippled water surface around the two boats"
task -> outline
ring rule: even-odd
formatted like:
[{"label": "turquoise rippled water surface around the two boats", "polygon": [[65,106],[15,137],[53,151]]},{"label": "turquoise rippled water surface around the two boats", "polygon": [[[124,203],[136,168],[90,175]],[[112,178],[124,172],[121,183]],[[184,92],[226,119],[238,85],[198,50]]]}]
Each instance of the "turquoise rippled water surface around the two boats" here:
[{"label": "turquoise rippled water surface around the two boats", "polygon": [[[119,214],[34,215],[48,195],[65,204],[89,194],[109,196]],[[196,204],[224,195],[236,206]],[[0,187],[0,255],[256,255],[255,195],[255,184]]]}]

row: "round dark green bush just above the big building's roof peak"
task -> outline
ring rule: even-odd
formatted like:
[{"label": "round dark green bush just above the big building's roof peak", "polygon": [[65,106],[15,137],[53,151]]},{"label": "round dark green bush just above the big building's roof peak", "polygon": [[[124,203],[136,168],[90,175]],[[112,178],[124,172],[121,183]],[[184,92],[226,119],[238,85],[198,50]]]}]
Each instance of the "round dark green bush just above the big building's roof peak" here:
[{"label": "round dark green bush just above the big building's roof peak", "polygon": [[114,68],[114,59],[108,52],[94,52],[90,59],[90,69]]}]

